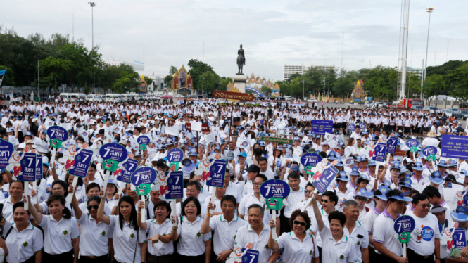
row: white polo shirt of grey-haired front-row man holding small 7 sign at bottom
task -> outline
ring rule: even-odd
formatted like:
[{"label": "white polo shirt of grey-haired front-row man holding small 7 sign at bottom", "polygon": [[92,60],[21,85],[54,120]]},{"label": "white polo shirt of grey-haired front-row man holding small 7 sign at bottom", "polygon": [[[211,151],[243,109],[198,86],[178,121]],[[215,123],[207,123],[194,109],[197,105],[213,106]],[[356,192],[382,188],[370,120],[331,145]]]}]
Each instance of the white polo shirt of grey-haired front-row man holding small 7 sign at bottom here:
[{"label": "white polo shirt of grey-haired front-row man holding small 7 sign at bottom", "polygon": [[258,251],[258,262],[268,262],[272,255],[272,250],[268,247],[268,238],[270,237],[270,226],[263,224],[260,235],[253,231],[250,224],[241,227],[234,240],[234,253],[236,257],[242,255],[242,250],[251,244],[251,250]]}]

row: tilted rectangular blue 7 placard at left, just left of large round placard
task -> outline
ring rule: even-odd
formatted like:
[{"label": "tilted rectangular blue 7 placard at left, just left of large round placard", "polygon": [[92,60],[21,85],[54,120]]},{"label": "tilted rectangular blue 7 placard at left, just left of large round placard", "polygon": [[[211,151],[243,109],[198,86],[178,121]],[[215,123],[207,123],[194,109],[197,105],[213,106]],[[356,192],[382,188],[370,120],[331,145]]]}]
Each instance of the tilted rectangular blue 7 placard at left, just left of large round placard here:
[{"label": "tilted rectangular blue 7 placard at left, just left of large round placard", "polygon": [[[77,153],[75,154],[75,160],[72,161],[72,165],[70,169],[68,169],[68,174],[74,176],[73,178],[73,193],[67,195],[67,202],[69,204],[72,203],[73,195],[75,195],[75,187],[78,183],[78,177],[84,178],[88,173],[89,166],[91,165],[91,161],[94,159],[95,151],[92,148],[79,148]],[[107,182],[106,182],[107,184]],[[106,188],[103,188],[106,189]]]}]

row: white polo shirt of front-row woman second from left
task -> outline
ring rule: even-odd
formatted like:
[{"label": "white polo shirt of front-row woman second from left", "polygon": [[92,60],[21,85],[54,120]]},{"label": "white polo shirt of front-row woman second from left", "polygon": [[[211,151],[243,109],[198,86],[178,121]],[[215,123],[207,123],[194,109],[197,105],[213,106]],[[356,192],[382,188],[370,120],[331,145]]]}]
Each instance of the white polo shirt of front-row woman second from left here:
[{"label": "white polo shirt of front-row woman second from left", "polygon": [[80,237],[77,219],[62,217],[56,222],[51,215],[43,215],[39,226],[44,229],[44,252],[51,255],[63,254],[72,250],[72,239]]}]

